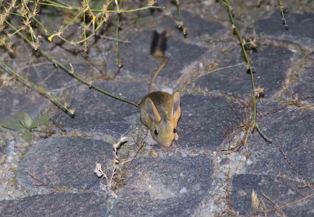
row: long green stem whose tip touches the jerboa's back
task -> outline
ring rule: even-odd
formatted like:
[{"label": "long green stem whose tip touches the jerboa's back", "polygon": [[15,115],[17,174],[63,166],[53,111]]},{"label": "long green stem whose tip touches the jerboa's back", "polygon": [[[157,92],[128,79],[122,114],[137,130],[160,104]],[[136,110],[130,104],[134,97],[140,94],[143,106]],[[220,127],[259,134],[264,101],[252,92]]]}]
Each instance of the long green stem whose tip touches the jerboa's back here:
[{"label": "long green stem whose tip touches the jerboa's back", "polygon": [[[13,29],[16,30],[16,28],[11,24],[9,23],[8,21],[6,21],[6,23],[11,26]],[[31,41],[29,39],[27,39],[22,33],[18,32],[19,35],[25,40],[27,41],[28,43],[30,43]],[[122,99],[120,97],[117,97],[113,94],[110,94],[108,92],[106,92],[105,90],[102,90],[101,88],[91,84],[90,82],[86,81],[85,79],[79,77],[78,75],[76,75],[74,72],[72,72],[70,69],[68,69],[67,67],[65,67],[61,62],[57,61],[55,58],[51,57],[49,54],[47,54],[46,52],[44,52],[43,50],[41,50],[40,48],[37,49],[38,51],[40,51],[46,58],[48,58],[49,60],[51,60],[51,62],[53,62],[54,64],[60,66],[61,68],[63,68],[65,71],[67,71],[69,74],[71,74],[74,78],[78,79],[80,82],[82,82],[83,84],[87,84],[90,88],[93,88],[95,90],[98,90],[99,92],[103,93],[103,94],[106,94],[108,96],[111,96],[112,98],[115,98],[117,100],[120,100],[120,101],[123,101],[123,102],[126,102],[126,103],[129,103],[133,106],[136,106],[136,107],[139,107],[138,104],[134,103],[134,102],[131,102],[131,101],[128,101],[128,100],[125,100],[125,99]]]}]

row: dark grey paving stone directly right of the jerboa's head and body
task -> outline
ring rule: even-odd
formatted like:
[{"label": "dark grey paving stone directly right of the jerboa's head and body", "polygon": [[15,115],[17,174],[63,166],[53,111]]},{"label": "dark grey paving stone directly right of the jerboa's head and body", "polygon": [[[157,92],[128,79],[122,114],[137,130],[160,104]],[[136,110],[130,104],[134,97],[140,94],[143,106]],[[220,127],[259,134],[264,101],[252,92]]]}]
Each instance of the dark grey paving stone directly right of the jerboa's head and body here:
[{"label": "dark grey paving stone directly right of the jerboa's head and body", "polygon": [[219,150],[224,131],[236,121],[230,103],[223,97],[182,96],[181,119],[177,127],[179,146]]}]

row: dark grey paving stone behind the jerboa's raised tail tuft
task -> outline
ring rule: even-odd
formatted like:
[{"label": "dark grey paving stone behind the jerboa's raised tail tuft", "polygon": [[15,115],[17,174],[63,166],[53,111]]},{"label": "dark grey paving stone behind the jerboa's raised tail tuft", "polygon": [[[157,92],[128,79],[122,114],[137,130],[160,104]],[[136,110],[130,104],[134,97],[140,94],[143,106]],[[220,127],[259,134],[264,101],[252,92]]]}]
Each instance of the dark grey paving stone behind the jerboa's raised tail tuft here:
[{"label": "dark grey paving stone behind the jerboa's raised tail tuft", "polygon": [[[131,44],[120,45],[120,59],[123,67],[120,76],[131,75],[138,79],[150,79],[161,61],[150,55],[150,44],[153,31],[143,31],[140,33],[129,33]],[[167,40],[167,50],[165,56],[169,62],[160,72],[156,82],[172,81],[181,76],[181,70],[194,62],[198,57],[207,51],[204,47],[185,44],[176,39]],[[112,53],[111,62],[108,62],[108,69],[116,71],[116,53]]]}]

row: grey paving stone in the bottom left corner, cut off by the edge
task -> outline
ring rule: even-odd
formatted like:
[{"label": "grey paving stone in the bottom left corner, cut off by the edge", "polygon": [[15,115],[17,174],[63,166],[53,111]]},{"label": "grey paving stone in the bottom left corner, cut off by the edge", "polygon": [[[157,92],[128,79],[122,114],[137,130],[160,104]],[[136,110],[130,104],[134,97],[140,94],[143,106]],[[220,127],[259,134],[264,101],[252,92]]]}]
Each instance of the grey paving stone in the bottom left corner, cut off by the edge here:
[{"label": "grey paving stone in the bottom left corner, cut off by the edge", "polygon": [[104,195],[51,193],[0,201],[1,216],[108,216]]}]

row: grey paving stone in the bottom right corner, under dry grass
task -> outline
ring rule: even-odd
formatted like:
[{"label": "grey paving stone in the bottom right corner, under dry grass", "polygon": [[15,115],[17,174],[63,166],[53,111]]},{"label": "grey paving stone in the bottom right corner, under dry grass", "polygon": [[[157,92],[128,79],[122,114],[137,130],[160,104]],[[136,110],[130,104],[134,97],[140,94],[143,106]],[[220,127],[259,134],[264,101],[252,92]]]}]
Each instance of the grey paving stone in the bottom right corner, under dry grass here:
[{"label": "grey paving stone in the bottom right corner, under dry grass", "polygon": [[[313,191],[310,188],[298,188],[300,182],[277,176],[241,174],[232,181],[233,191],[231,194],[231,205],[241,216],[251,216],[254,213],[252,207],[252,190],[255,191],[259,200],[263,200],[267,209],[274,209],[274,205],[263,197],[268,196],[278,206],[294,202],[308,195]],[[263,206],[263,205],[262,205]],[[281,209],[281,212],[269,212],[268,216],[313,216],[314,200],[307,198],[299,203],[292,204]]]}]

